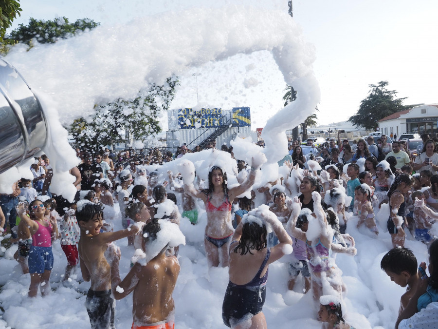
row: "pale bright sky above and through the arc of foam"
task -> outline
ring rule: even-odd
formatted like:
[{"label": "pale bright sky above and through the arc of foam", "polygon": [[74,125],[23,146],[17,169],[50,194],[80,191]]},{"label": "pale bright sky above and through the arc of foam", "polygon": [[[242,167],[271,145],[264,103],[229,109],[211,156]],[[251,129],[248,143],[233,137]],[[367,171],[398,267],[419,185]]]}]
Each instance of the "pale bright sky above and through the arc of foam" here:
[{"label": "pale bright sky above and through the arc of foam", "polygon": [[[87,17],[117,27],[136,17],[197,6],[220,10],[229,3],[288,9],[287,0],[157,2],[21,0],[23,11],[13,28],[26,24],[29,17],[59,16],[71,21]],[[438,3],[432,0],[415,6],[405,0],[294,0],[293,19],[315,49],[313,68],[321,90],[319,124],[347,120],[367,96],[368,85],[382,80],[398,91],[398,97],[408,97],[405,105],[436,103],[438,23],[433,15],[437,9]],[[200,104],[223,109],[250,106],[255,129],[283,107],[286,83],[267,51],[206,63],[179,77],[173,108],[194,107],[198,97]]]}]

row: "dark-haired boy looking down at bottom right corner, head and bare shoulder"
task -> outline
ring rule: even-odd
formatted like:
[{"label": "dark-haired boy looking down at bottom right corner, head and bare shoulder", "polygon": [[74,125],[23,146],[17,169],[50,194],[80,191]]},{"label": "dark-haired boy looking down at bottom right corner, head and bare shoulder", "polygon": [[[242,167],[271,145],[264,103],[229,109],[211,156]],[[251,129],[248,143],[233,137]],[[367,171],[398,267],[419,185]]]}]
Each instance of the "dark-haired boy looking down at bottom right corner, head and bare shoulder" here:
[{"label": "dark-haired boy looking down at bottom right corner, head and bare shoulder", "polygon": [[407,248],[394,248],[380,262],[380,268],[400,287],[407,287],[400,299],[399,315],[406,308],[419,283],[418,263],[414,253]]}]

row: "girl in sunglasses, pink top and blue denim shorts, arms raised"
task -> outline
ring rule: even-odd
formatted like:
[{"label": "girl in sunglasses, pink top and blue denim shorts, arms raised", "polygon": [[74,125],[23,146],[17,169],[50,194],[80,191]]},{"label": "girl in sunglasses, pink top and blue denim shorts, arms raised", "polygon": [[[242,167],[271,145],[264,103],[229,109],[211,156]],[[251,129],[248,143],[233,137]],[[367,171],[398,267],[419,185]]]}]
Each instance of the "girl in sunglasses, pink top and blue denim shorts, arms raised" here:
[{"label": "girl in sunglasses, pink top and blue denim shorts, arms raised", "polygon": [[49,279],[53,268],[52,239],[56,239],[58,228],[55,216],[50,216],[49,220],[44,215],[45,212],[46,208],[40,200],[32,201],[29,209],[26,209],[24,204],[17,205],[18,216],[29,227],[32,235],[32,246],[29,251],[29,273],[31,275],[29,297],[37,296],[40,284],[42,296],[50,291]]}]

